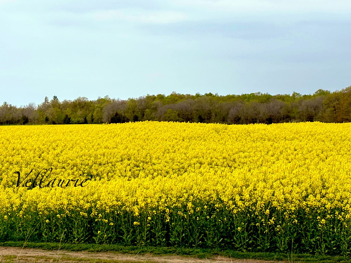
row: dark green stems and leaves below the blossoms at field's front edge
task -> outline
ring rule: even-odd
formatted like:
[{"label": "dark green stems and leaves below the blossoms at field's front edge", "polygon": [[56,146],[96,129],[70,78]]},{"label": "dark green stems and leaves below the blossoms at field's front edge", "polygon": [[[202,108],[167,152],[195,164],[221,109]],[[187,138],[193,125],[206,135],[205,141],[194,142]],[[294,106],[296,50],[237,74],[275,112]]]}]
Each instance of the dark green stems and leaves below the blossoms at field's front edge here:
[{"label": "dark green stems and leaves below the blossoms at field's front edge", "polygon": [[[64,242],[118,244],[141,247],[203,248],[243,252],[309,253],[350,256],[351,220],[326,216],[329,212],[304,209],[294,212],[271,210],[232,213],[221,202],[156,209],[138,216],[120,207],[96,215],[78,210],[40,215],[19,208],[25,217],[0,217],[0,242]],[[219,208],[220,207],[220,208]],[[14,211],[19,214],[19,211]],[[335,209],[329,214],[341,213]],[[288,215],[288,216],[287,216]],[[321,223],[320,217],[326,218]],[[273,221],[277,223],[274,223]],[[279,223],[279,225],[278,225]],[[84,245],[81,245],[84,247]]]}]

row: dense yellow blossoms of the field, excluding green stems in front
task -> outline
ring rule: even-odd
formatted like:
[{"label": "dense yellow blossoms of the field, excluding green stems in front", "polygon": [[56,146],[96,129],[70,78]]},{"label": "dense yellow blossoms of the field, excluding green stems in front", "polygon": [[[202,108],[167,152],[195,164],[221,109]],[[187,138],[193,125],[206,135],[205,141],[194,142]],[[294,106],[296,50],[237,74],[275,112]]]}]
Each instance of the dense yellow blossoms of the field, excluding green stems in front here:
[{"label": "dense yellow blossoms of the field, excluding green stems in front", "polygon": [[[280,228],[274,208],[286,218],[302,209],[350,222],[349,123],[1,126],[0,142],[0,217],[6,221],[31,210],[49,223],[50,215],[62,219],[78,211],[110,226],[115,222],[105,214],[130,213],[139,226],[142,213],[147,222],[160,212],[165,222],[172,213],[184,220],[196,213],[198,221],[214,208],[250,211],[266,216],[258,226]],[[33,169],[27,179],[34,180],[50,167],[50,178],[87,178],[88,184],[16,186],[14,172],[22,181]],[[211,213],[208,220],[216,217]],[[316,220],[324,226],[329,217]]]}]

